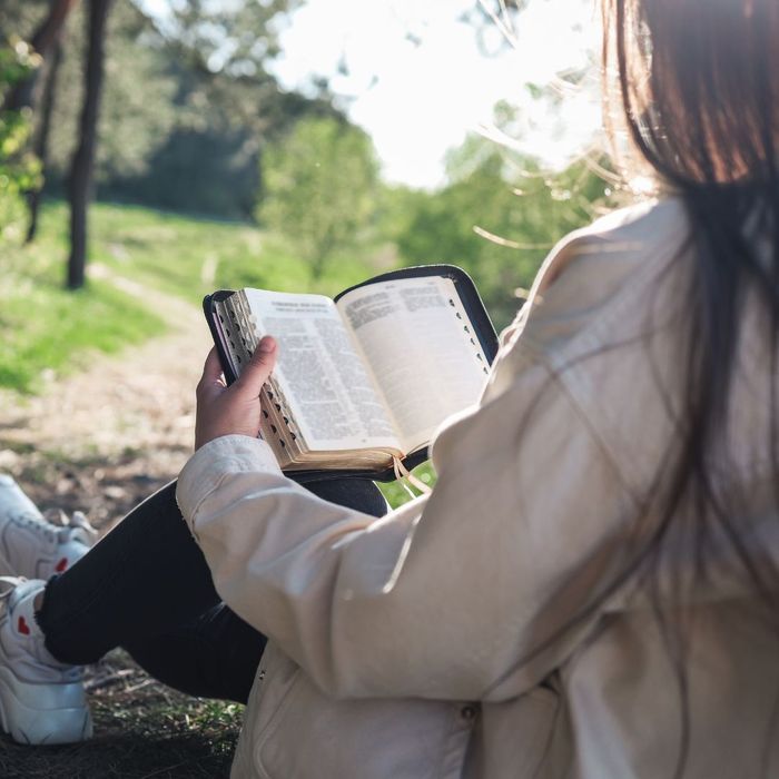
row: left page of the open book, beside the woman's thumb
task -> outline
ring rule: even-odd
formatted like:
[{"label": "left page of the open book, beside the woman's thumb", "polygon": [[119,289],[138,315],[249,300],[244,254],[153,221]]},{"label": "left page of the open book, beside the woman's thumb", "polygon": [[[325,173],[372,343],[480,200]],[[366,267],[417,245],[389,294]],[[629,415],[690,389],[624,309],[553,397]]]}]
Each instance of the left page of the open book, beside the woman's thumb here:
[{"label": "left page of the open book, beside the woman's thumb", "polygon": [[395,427],[333,300],[245,289],[258,336],[279,345],[274,378],[310,450],[398,448]]}]

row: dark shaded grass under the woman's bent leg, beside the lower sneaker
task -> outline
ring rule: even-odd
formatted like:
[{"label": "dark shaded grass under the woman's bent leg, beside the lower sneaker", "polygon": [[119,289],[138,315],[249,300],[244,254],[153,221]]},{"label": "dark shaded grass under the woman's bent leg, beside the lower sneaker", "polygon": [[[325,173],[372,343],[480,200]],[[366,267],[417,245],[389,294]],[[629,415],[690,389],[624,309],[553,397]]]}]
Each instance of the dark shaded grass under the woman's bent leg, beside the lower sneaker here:
[{"label": "dark shaded grass under the woman's bent leg, beside the lower sneaker", "polygon": [[243,707],[191,698],[111,652],[87,671],[95,738],[23,747],[0,737],[3,779],[226,779]]}]

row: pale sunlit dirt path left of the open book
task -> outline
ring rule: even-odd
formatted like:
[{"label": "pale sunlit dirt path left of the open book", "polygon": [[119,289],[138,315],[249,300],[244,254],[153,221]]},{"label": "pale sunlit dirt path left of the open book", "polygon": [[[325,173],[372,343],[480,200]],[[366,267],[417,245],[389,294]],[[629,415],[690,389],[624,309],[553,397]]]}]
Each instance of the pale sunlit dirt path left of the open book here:
[{"label": "pale sunlit dirt path left of the open book", "polygon": [[51,382],[38,397],[1,394],[0,471],[42,507],[81,509],[106,526],[186,462],[210,338],[195,306],[99,266],[92,274],[142,295],[170,331],[121,355],[99,355],[88,372]]}]

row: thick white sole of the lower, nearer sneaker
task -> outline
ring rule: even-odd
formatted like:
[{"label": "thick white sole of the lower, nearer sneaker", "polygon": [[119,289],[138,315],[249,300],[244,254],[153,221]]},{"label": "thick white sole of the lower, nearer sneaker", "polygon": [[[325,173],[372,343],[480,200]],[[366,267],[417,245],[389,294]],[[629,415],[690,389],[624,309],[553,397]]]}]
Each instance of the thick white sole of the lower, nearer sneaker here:
[{"label": "thick white sole of the lower, nearer sneaker", "polygon": [[19,700],[17,684],[9,669],[0,668],[0,727],[17,743],[73,743],[91,738],[88,707],[33,709]]}]

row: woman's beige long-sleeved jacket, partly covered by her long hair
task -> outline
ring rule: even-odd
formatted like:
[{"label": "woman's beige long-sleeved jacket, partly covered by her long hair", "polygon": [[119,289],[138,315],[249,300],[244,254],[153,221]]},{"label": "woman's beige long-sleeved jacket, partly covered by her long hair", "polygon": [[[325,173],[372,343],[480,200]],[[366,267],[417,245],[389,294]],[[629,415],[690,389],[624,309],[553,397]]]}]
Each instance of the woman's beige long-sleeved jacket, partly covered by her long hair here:
[{"label": "woman's beige long-sleeved jacket, partly covered by her long hair", "polygon": [[[300,489],[262,441],[227,436],[189,461],[178,500],[216,588],[270,637],[234,777],[673,776],[679,691],[652,609],[629,580],[571,621],[645,542],[637,516],[674,451],[686,234],[668,200],[561,244],[480,407],[437,435],[432,496],[385,519]],[[745,543],[773,555],[757,326],[718,489],[749,496]],[[693,555],[677,542],[683,576]],[[779,647],[727,546],[711,561],[687,613],[686,776],[779,776],[776,761],[761,773]],[[674,581],[658,593],[672,622]]]}]

